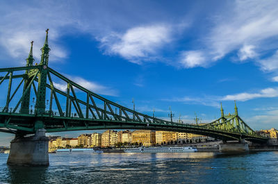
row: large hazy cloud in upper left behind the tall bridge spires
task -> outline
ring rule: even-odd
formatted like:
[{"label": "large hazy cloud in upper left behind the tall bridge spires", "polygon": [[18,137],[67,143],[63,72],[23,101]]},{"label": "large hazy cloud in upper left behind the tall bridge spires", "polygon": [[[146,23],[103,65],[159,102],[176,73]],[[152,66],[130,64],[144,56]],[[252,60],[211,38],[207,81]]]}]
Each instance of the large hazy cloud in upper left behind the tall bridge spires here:
[{"label": "large hazy cloud in upper left behind the tall bridge spires", "polygon": [[51,1],[33,2],[32,6],[25,6],[19,2],[16,5],[15,3],[1,3],[0,12],[0,47],[9,56],[15,59],[20,58],[20,62],[25,63],[31,46],[30,42],[33,40],[35,62],[40,62],[40,48],[43,46],[44,31],[47,28],[49,28],[51,62],[67,56],[67,51],[57,42],[63,35],[62,29],[65,26],[74,26],[74,20],[70,18],[66,4]]}]

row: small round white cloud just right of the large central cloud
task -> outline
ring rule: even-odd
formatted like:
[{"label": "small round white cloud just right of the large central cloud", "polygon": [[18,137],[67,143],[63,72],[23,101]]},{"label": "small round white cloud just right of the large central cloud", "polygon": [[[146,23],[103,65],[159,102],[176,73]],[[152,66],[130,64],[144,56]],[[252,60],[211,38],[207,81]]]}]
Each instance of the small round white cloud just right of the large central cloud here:
[{"label": "small round white cloud just right of the large central cloud", "polygon": [[180,58],[179,62],[185,68],[206,66],[206,59],[202,51],[183,51]]}]

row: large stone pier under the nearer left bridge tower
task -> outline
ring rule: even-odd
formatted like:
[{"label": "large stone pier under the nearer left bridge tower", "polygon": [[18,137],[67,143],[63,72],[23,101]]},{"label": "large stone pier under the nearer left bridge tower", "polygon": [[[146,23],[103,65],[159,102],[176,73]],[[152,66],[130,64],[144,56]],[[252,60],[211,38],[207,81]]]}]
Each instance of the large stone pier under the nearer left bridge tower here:
[{"label": "large stone pier under the nearer left bridge tower", "polygon": [[23,137],[15,135],[10,142],[8,165],[49,166],[48,137],[45,129],[38,129],[35,135]]}]

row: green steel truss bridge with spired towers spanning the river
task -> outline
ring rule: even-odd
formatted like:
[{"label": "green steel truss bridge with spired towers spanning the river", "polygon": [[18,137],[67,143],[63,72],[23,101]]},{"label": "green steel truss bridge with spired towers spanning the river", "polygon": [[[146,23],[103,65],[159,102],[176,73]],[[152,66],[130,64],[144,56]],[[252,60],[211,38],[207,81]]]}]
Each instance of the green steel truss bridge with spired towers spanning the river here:
[{"label": "green steel truss bridge with spired towers spanning the river", "polygon": [[33,65],[32,41],[25,67],[0,69],[1,132],[27,135],[40,128],[47,133],[129,128],[195,133],[220,140],[267,140],[238,116],[236,105],[233,115],[224,115],[221,105],[219,119],[198,126],[145,115],[85,89],[49,67],[48,29],[41,51],[40,63]]}]

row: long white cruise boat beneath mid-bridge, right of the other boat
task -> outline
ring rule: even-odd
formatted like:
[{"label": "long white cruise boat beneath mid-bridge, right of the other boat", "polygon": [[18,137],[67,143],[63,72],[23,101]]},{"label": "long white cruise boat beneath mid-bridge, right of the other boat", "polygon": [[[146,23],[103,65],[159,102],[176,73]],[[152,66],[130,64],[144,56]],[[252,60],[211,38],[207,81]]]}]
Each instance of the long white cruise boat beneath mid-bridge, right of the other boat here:
[{"label": "long white cruise boat beneath mid-bridge, right of the other boat", "polygon": [[126,153],[190,153],[196,152],[193,147],[138,147],[124,149]]}]

